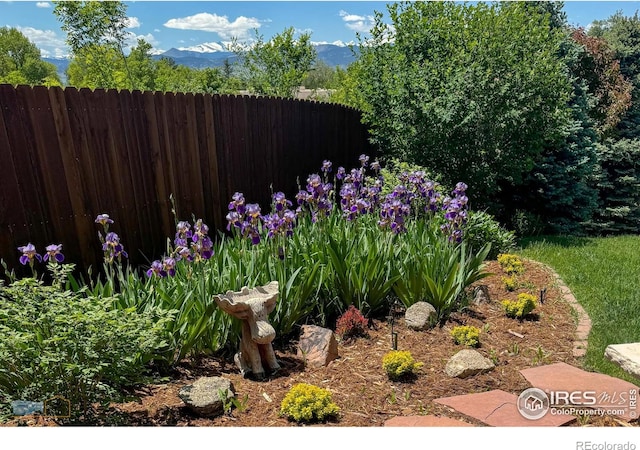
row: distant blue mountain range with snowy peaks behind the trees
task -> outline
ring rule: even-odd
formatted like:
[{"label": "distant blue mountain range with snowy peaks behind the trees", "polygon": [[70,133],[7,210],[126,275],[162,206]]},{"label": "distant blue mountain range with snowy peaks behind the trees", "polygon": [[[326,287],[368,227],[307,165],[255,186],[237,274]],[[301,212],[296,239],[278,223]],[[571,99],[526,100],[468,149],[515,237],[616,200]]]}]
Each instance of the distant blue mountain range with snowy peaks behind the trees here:
[{"label": "distant blue mountain range with snowy peaks behind the trees", "polygon": [[[335,44],[314,44],[318,60],[324,62],[330,67],[340,66],[347,67],[356,60],[358,50],[345,45]],[[217,43],[201,44],[197,47],[189,49],[172,48],[164,53],[153,55],[152,58],[170,58],[176,64],[191,67],[193,69],[203,69],[205,67],[222,67],[225,60],[233,63],[237,60],[237,56],[233,52],[225,51],[224,47]],[[43,58],[45,61],[53,63],[58,68],[58,73],[64,78],[69,59],[66,58]]]}]

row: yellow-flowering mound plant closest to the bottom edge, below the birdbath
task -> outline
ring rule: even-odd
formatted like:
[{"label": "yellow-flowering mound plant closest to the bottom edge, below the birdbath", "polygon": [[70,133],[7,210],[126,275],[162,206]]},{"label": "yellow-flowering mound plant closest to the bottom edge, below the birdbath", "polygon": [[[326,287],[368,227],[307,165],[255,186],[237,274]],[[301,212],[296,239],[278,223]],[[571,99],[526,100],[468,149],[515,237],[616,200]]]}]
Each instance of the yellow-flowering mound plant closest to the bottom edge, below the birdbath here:
[{"label": "yellow-flowering mound plant closest to the bottom edge, below the birdbath", "polygon": [[280,414],[296,422],[323,421],[339,412],[331,392],[306,383],[293,386],[280,404]]}]

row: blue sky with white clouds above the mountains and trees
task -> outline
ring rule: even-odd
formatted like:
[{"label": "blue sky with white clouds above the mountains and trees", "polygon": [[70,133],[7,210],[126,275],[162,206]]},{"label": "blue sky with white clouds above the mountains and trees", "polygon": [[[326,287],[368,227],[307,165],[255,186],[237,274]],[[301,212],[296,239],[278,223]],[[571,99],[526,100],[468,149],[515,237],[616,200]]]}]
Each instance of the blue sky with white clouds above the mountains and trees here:
[{"label": "blue sky with white clouds above the mountains and trees", "polygon": [[[371,1],[136,1],[126,2],[130,42],[143,37],[160,53],[172,47],[209,49],[253,36],[257,28],[265,39],[294,27],[311,32],[314,42],[356,40],[366,33],[374,11],[384,12],[386,2]],[[633,15],[640,1],[565,2],[569,23],[588,26],[618,10]],[[49,1],[0,1],[0,26],[20,29],[41,49],[43,56],[68,54],[65,34]]]}]

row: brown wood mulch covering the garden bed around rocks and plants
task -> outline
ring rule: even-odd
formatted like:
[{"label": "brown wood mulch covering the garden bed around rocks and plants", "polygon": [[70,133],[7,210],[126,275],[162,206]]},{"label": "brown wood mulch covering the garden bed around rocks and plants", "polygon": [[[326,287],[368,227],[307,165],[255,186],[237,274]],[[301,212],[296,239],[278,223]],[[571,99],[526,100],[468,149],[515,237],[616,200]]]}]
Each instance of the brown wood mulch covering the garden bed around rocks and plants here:
[{"label": "brown wood mulch covering the garden bed around rocks and plants", "polygon": [[[136,392],[137,399],[112,405],[108,413],[121,425],[169,425],[215,427],[281,427],[298,426],[279,415],[280,402],[296,383],[310,383],[329,389],[333,401],[341,408],[337,420],[308,426],[371,427],[381,426],[395,416],[435,414],[482,425],[434,399],[501,389],[519,395],[530,387],[520,370],[536,365],[565,362],[580,367],[573,355],[576,314],[564,300],[556,278],[545,266],[525,261],[519,287],[507,292],[502,283],[500,266],[495,261],[486,269],[493,273],[479,282],[488,287],[491,301],[471,305],[452,315],[444,325],[427,331],[413,331],[399,319],[398,349],[409,350],[424,366],[410,381],[390,381],[382,369],[382,358],[391,350],[389,323],[374,321],[368,338],[340,343],[340,357],[327,367],[305,367],[295,354],[295,343],[289,349],[276,348],[282,369],[265,381],[244,379],[230,359],[207,357],[200,361],[184,361],[172,381],[152,385]],[[536,297],[546,289],[545,300],[538,304],[526,320],[505,316],[500,300],[515,299],[528,292]],[[456,345],[449,332],[456,325],[480,328],[477,350],[496,363],[495,370],[466,379],[450,378],[444,367],[455,353],[465,347]],[[190,413],[177,393],[182,386],[201,376],[229,378],[243,410],[216,418],[202,418]],[[113,422],[112,422],[113,423]],[[34,423],[35,424],[35,423]],[[42,425],[42,419],[40,419]],[[574,426],[622,425],[613,418],[593,418]]]}]

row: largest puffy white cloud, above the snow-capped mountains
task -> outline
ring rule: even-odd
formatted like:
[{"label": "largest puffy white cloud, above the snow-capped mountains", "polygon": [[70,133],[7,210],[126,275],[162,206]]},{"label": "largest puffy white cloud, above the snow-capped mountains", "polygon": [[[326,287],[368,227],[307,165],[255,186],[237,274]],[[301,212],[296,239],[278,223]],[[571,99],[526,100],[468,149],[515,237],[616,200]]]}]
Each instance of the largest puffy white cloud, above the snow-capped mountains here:
[{"label": "largest puffy white cloud, above the snow-capped mountains", "polygon": [[199,30],[217,33],[222,39],[245,39],[249,31],[260,28],[260,21],[254,17],[237,17],[233,22],[227,16],[217,14],[198,13],[193,16],[169,19],[164,26],[179,30]]}]

